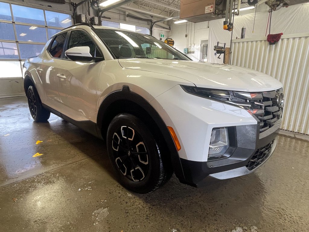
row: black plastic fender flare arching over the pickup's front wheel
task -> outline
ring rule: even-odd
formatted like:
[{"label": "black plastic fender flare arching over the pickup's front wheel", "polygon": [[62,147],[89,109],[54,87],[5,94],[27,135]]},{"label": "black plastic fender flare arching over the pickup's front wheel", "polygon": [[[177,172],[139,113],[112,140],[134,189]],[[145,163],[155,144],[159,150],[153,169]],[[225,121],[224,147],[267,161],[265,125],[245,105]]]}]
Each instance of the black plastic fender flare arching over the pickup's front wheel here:
[{"label": "black plastic fender flare arching over the pickup's front wheel", "polygon": [[[150,115],[150,117],[154,120],[155,124],[159,128],[159,132],[163,136],[163,139],[166,142],[167,148],[171,156],[171,164],[173,166],[174,173],[176,174],[177,178],[180,179],[180,181],[185,181],[184,172],[180,162],[180,157],[175,147],[174,140],[172,139],[171,134],[168,131],[167,126],[165,125],[163,119],[161,118],[159,113],[155,110],[155,108],[152,105],[150,105],[148,101],[146,101],[139,94],[130,91],[129,86],[124,85],[121,90],[114,91],[108,94],[108,96],[104,98],[98,110],[98,116],[97,116],[98,134],[102,135],[102,137],[105,139],[107,125],[104,125],[104,122],[106,123],[105,120],[108,120],[107,119],[108,108],[110,105],[119,100],[131,101],[134,104],[141,107],[143,110],[146,111],[147,114]],[[109,124],[109,122],[107,123]]]}]

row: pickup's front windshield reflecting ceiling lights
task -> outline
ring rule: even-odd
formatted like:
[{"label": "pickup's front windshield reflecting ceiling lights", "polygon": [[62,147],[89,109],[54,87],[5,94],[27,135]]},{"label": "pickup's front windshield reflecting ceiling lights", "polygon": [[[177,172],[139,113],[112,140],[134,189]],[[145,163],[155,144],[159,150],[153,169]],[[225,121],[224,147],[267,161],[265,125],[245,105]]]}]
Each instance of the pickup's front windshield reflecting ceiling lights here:
[{"label": "pickup's front windshield reflecting ceiling lights", "polygon": [[117,59],[190,60],[170,45],[148,35],[116,29],[94,29]]}]

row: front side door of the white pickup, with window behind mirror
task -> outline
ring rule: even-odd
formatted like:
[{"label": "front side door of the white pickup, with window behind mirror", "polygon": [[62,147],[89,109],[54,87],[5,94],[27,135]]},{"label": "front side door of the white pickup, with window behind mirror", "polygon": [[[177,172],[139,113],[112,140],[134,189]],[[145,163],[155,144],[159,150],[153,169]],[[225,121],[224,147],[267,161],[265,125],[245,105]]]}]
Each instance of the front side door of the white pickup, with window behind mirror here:
[{"label": "front side door of the white pickup, with window behind mirror", "polygon": [[[82,30],[70,33],[67,49],[88,46],[93,57],[102,57],[91,37]],[[104,61],[75,62],[65,57],[57,67],[61,113],[76,121],[96,122],[96,87]]]}]

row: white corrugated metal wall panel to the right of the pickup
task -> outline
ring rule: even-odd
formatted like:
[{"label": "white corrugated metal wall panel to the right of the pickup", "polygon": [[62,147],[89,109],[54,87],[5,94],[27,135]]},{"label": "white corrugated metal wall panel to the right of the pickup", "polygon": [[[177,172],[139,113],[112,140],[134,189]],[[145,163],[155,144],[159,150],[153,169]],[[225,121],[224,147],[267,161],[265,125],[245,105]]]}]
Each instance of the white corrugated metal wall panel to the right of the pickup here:
[{"label": "white corrugated metal wall panel to the right of the pickup", "polygon": [[266,73],[283,84],[281,128],[309,134],[309,33],[283,35],[275,45],[266,37],[232,43],[233,65]]}]

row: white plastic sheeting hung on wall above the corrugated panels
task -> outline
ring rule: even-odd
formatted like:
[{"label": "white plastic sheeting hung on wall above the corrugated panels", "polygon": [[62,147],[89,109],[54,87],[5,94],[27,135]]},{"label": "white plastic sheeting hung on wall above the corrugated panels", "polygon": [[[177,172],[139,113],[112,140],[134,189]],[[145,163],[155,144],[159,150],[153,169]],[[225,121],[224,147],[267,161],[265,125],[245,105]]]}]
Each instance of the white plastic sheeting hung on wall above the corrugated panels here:
[{"label": "white plastic sheeting hung on wall above the corrugated panels", "polygon": [[[254,10],[251,10],[251,12]],[[296,34],[309,32],[307,22],[309,21],[309,4],[294,5],[287,8],[281,8],[272,13],[271,21],[271,34],[283,33],[283,34]],[[265,37],[267,21],[269,13],[267,10],[256,13],[255,25],[253,31],[254,13],[235,16],[233,39],[240,38],[241,28],[246,28],[245,38]],[[224,19],[217,19],[210,21],[210,34],[209,34],[209,46],[208,53],[213,51],[213,46],[217,41],[226,43],[227,47],[230,47],[231,32],[223,30]],[[253,31],[253,32],[252,32]],[[269,29],[267,30],[269,34]],[[232,48],[233,52],[233,48]],[[214,55],[208,55],[209,62],[223,63],[222,59],[219,60]]]}]

